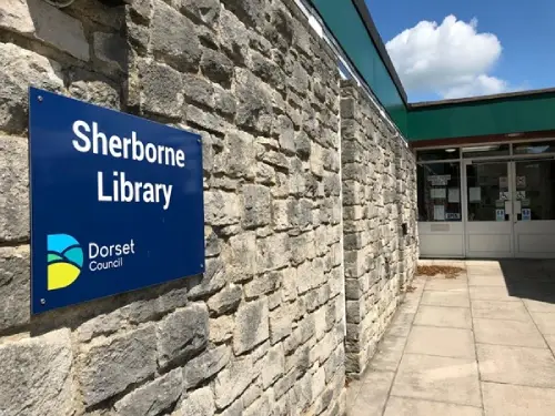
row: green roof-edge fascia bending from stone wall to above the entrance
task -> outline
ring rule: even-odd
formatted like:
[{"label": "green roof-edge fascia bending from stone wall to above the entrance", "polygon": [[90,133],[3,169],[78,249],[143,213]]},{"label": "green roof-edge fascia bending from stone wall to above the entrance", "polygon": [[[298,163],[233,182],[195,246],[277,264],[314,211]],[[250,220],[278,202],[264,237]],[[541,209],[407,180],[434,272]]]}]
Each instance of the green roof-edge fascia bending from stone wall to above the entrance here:
[{"label": "green roof-edge fascia bending from stone wall to above the entrance", "polygon": [[555,89],[408,104],[364,0],[309,0],[408,141],[555,130]]}]

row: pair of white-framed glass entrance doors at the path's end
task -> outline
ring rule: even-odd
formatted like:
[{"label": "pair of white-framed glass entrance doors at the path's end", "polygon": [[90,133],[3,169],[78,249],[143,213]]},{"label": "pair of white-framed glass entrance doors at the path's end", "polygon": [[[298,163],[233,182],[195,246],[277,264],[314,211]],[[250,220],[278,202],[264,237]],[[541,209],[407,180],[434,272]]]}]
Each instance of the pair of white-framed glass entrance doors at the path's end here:
[{"label": "pair of white-framed glass entrance doors at the path's end", "polygon": [[555,258],[555,160],[464,166],[466,256]]}]

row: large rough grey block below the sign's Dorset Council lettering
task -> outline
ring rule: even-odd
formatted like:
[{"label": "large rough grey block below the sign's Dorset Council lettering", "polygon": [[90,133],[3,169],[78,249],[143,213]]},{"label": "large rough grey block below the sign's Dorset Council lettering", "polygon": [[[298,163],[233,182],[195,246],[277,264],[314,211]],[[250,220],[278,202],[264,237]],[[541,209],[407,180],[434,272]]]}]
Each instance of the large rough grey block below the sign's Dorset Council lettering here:
[{"label": "large rough grey block below the sign's Dorset Council lettering", "polygon": [[79,372],[83,400],[95,405],[141,382],[157,369],[153,325],[117,335],[91,346]]}]

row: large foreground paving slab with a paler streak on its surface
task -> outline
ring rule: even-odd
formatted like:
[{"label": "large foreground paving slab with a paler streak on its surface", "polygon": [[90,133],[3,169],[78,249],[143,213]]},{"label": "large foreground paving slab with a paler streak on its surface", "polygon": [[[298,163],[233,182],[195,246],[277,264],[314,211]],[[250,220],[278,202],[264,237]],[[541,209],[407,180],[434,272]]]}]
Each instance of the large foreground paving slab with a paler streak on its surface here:
[{"label": "large foreground paving slab with a paler streak on its surface", "polygon": [[398,366],[391,394],[481,406],[476,361],[405,354]]}]

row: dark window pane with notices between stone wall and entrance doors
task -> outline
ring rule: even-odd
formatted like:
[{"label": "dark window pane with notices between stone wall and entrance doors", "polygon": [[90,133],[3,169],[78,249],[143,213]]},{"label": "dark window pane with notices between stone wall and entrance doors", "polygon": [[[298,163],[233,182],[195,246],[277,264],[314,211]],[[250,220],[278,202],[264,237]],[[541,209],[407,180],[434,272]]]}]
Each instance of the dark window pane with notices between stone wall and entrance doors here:
[{"label": "dark window pane with notices between stone wall and entrance doors", "polygon": [[460,162],[420,164],[418,221],[461,221]]}]

